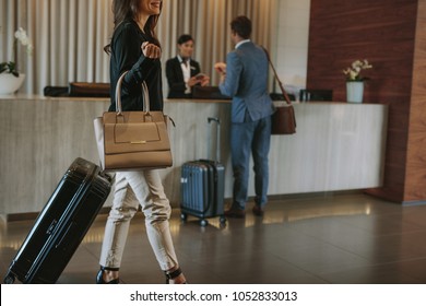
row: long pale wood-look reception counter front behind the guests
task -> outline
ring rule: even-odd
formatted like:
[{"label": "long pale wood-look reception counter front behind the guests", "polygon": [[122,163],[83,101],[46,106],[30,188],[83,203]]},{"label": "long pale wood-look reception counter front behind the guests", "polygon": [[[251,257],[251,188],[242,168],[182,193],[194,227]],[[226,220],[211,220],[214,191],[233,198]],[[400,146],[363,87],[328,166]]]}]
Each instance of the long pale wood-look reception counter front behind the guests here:
[{"label": "long pale wood-look reception counter front behind the guests", "polygon": [[[109,99],[0,97],[0,214],[42,210],[71,162],[97,162],[93,118]],[[380,104],[295,104],[297,133],[273,136],[269,195],[352,190],[381,186],[388,109]],[[225,198],[232,197],[228,101],[170,99],[165,114],[170,129],[174,166],[162,169],[166,193],[179,205],[180,166],[214,156],[208,144],[221,119],[221,161],[226,166]],[[209,150],[210,149],[210,150]],[[212,151],[212,152],[208,152]],[[253,196],[253,175],[249,196]],[[110,205],[110,199],[105,205]]]}]

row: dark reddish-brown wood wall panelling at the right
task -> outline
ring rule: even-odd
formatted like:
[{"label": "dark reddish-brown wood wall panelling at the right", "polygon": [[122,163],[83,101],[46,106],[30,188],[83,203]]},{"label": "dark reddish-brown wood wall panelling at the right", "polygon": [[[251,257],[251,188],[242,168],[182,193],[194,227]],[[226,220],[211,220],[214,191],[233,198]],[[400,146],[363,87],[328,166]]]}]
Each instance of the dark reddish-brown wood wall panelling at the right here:
[{"label": "dark reddish-brown wood wall panelling at the right", "polygon": [[311,2],[307,87],[345,101],[342,70],[372,63],[364,102],[389,105],[389,128],[383,187],[368,191],[397,202],[426,201],[425,15],[425,0]]}]

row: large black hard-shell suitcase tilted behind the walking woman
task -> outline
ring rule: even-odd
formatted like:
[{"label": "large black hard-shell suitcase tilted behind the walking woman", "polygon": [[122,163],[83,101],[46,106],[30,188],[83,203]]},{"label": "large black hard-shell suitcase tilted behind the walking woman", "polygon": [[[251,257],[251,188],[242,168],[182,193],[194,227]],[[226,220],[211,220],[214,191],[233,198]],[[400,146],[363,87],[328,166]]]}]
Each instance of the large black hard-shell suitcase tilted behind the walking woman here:
[{"label": "large black hard-shell suitcase tilted behind the walking woman", "polygon": [[76,158],[59,181],[15,258],[4,283],[56,283],[111,189],[110,176]]}]

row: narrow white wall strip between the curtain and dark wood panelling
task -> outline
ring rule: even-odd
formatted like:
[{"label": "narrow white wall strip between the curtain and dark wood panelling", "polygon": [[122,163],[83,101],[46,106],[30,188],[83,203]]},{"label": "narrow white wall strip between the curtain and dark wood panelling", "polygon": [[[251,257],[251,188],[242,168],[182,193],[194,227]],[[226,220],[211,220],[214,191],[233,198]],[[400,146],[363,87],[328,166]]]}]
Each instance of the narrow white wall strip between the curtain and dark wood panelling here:
[{"label": "narrow white wall strip between the curtain and dark wood panelling", "polygon": [[[310,0],[280,0],[274,64],[281,81],[304,89],[308,66]],[[288,86],[291,92],[291,86]],[[276,87],[279,91],[279,87]]]}]

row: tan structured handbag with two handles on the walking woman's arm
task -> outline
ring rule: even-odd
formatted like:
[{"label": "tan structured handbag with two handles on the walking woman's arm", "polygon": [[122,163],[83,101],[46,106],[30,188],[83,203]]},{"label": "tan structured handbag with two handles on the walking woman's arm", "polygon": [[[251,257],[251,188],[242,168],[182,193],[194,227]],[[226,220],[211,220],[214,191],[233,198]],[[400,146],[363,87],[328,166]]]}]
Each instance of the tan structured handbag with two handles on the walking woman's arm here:
[{"label": "tan structured handbag with two handles on the walking woman's arm", "polygon": [[104,170],[138,170],[173,165],[168,117],[150,111],[146,83],[142,83],[144,111],[121,111],[122,73],[116,87],[116,110],[95,118],[95,137]]}]

